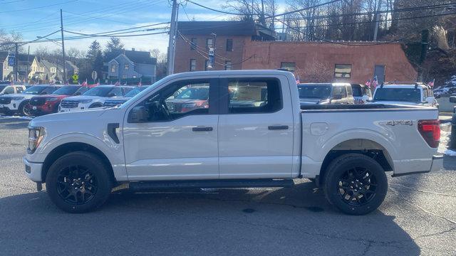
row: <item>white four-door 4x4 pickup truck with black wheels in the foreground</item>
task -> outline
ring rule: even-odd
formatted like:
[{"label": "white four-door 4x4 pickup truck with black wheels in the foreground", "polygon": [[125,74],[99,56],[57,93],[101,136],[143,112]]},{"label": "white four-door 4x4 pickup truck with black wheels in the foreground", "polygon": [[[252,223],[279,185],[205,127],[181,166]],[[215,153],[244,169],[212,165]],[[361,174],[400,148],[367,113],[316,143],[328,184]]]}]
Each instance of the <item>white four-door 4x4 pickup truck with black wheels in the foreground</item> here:
[{"label": "white four-door 4x4 pickup truck with black wheels in the foreground", "polygon": [[[209,88],[207,104],[172,105],[189,87]],[[310,178],[338,209],[360,215],[383,202],[385,171],[442,168],[436,108],[300,107],[294,75],[279,70],[170,75],[120,107],[36,117],[28,129],[26,175],[71,213],[101,206],[120,187],[284,187]]]}]

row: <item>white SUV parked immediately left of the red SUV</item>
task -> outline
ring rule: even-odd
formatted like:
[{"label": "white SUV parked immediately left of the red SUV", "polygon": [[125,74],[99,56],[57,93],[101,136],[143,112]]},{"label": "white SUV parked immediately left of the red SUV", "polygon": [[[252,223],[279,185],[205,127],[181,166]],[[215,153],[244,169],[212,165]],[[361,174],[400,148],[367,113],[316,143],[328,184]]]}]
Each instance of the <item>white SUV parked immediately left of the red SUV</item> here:
[{"label": "white SUV parked immediately left of the red SUV", "polygon": [[31,116],[29,100],[35,95],[49,95],[58,90],[61,85],[35,85],[19,94],[0,96],[0,111],[4,114],[23,114]]}]

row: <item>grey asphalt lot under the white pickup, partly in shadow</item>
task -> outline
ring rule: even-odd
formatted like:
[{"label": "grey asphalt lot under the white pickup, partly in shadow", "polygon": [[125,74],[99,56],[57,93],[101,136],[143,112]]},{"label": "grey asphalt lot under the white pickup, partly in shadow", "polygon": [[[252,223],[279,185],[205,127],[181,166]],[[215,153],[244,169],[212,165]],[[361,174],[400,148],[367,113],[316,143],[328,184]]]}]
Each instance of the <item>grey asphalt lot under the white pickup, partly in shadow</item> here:
[{"label": "grey asphalt lot under the white pickup, partly in shadow", "polygon": [[375,212],[343,215],[294,188],[118,193],[68,214],[24,175],[28,120],[0,118],[0,255],[456,255],[456,157],[388,178]]}]

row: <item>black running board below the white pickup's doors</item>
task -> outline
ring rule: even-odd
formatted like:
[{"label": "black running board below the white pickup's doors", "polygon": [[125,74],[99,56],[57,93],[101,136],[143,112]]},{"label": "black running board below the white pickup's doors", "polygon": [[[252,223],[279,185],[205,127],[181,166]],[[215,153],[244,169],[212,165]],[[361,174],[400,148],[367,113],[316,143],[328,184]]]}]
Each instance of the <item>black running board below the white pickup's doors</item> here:
[{"label": "black running board below the white pickup's doors", "polygon": [[140,181],[130,182],[131,191],[169,188],[271,188],[294,186],[292,179],[243,179],[202,181]]}]

